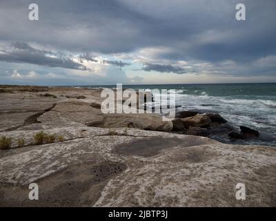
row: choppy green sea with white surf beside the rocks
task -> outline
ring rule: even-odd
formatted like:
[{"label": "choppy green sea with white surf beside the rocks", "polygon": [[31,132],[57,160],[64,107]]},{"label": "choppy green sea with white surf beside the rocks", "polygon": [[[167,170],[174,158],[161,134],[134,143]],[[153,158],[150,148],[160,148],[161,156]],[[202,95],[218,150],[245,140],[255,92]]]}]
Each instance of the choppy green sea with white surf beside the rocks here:
[{"label": "choppy green sea with white surf beside the rocks", "polygon": [[[115,85],[79,87],[116,88]],[[252,140],[217,140],[226,143],[276,146],[276,83],[123,85],[123,88],[175,89],[178,111],[219,113],[230,126],[237,129],[239,126],[248,126],[261,134],[258,139]]]}]

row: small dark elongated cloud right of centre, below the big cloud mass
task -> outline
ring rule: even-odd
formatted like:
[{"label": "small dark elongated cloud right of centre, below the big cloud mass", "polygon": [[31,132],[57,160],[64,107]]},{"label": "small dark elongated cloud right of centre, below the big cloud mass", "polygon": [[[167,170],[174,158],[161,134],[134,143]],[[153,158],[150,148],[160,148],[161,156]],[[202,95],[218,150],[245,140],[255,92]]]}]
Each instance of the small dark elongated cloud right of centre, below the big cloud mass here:
[{"label": "small dark elongated cloud right of centre, below the big cloud mass", "polygon": [[187,73],[184,68],[178,67],[178,66],[172,66],[170,64],[144,64],[142,67],[142,70],[145,71],[152,71],[155,70],[160,73],[175,73],[175,74],[185,74]]}]

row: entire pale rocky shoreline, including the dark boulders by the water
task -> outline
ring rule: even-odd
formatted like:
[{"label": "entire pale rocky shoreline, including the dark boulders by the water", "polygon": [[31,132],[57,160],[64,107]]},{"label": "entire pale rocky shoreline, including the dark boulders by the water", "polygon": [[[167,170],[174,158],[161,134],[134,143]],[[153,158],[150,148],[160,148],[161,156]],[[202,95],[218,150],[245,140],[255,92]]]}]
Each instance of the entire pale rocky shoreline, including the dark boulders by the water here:
[{"label": "entire pale rocky shoreline, including the dark boulders by the water", "polygon": [[[219,113],[101,113],[101,90],[0,86],[0,206],[276,206],[276,148]],[[38,201],[28,200],[37,182]],[[235,199],[235,185],[247,187]],[[12,190],[12,191],[11,191]]]}]

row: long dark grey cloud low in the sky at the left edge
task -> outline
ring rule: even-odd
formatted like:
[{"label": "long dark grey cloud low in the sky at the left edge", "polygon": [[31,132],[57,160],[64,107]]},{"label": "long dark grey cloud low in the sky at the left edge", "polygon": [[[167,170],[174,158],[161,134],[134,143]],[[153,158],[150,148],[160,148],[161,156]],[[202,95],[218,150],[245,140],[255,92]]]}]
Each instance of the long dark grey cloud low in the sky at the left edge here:
[{"label": "long dark grey cloud low in the sky at the left edge", "polygon": [[12,44],[11,48],[12,50],[1,52],[0,61],[87,70],[86,66],[78,64],[70,58],[51,57],[50,55],[55,55],[53,52],[38,50],[26,43],[16,42]]}]

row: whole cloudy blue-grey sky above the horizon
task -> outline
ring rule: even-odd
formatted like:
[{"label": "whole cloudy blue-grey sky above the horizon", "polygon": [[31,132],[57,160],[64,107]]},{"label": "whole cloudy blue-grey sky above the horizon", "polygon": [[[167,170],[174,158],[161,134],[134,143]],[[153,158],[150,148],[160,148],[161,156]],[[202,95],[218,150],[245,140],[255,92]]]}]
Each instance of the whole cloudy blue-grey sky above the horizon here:
[{"label": "whole cloudy blue-grey sky above the horizon", "polygon": [[275,22],[275,0],[0,0],[0,84],[276,82]]}]

